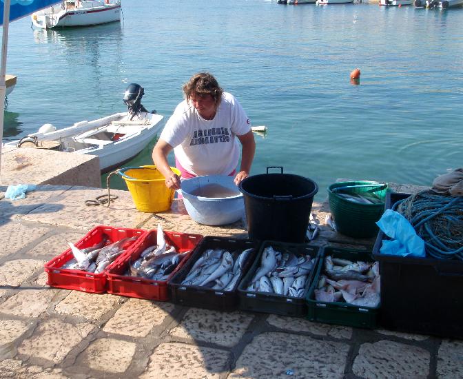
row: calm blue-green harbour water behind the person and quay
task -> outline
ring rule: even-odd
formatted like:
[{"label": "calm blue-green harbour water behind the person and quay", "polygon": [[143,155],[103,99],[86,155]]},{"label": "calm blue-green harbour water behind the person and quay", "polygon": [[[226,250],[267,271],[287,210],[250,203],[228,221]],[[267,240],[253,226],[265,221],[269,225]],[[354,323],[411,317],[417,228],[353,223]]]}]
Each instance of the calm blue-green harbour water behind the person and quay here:
[{"label": "calm blue-green harbour water behind the person and quay", "polygon": [[[251,174],[280,166],[269,172],[311,178],[319,200],[338,178],[431,185],[463,164],[463,8],[265,0],[122,7],[121,23],[10,24],[7,72],[18,81],[4,139],[122,112],[130,83],[145,88],[143,105],[166,121],[183,83],[209,71],[252,125],[267,126],[256,135]],[[349,80],[354,68],[358,85]],[[152,164],[153,145],[127,166]],[[118,176],[110,184],[125,187]]]}]

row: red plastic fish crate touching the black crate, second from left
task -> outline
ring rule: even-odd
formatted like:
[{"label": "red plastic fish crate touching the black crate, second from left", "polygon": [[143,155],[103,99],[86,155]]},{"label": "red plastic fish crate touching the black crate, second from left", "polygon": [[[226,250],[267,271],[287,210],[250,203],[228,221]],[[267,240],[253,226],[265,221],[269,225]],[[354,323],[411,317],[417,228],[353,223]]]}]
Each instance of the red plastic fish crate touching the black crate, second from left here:
[{"label": "red plastic fish crate touching the black crate, second from left", "polygon": [[[193,252],[193,249],[200,243],[203,236],[200,234],[187,234],[178,232],[164,232],[167,245],[173,245],[176,252]],[[143,250],[152,245],[156,245],[157,231],[152,229],[137,241],[136,246],[130,249],[130,252],[124,253],[110,269],[107,271],[107,292],[109,294],[129,296],[132,298],[143,298],[149,300],[165,301],[169,299],[167,282],[169,278],[181,269],[187,262],[191,254],[188,254],[181,263],[169,275],[167,280],[151,280],[138,278],[137,276],[126,276],[124,273],[130,265],[130,262],[137,260]]]}]

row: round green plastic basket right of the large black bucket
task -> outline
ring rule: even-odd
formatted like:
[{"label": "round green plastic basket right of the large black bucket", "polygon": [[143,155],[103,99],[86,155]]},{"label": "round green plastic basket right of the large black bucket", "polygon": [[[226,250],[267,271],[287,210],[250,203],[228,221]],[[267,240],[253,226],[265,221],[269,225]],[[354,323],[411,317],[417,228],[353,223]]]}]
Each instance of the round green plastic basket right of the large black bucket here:
[{"label": "round green plastic basket right of the large black bucket", "polygon": [[[355,187],[364,185],[365,187]],[[354,187],[352,187],[354,186]],[[343,198],[336,189],[346,188],[344,194],[364,194],[373,191],[382,203],[361,204]],[[378,221],[384,212],[384,200],[388,191],[387,184],[372,181],[351,181],[333,183],[328,187],[329,208],[338,232],[353,238],[369,238],[378,234]]]}]

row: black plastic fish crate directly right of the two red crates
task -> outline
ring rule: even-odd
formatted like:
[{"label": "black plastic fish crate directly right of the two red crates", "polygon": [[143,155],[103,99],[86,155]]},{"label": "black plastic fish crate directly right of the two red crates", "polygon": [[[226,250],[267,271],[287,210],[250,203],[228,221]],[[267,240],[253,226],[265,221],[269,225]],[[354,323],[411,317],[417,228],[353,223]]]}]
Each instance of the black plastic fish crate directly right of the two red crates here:
[{"label": "black plastic fish crate directly right of the two red crates", "polygon": [[[254,247],[253,254],[249,254],[245,261],[245,267],[236,281],[231,291],[223,291],[201,287],[197,285],[182,285],[187,277],[189,270],[193,267],[196,260],[205,252],[206,249],[225,249],[229,252],[235,250],[245,250]],[[227,237],[206,236],[196,246],[192,256],[187,263],[169,280],[168,286],[172,303],[186,305],[188,307],[199,307],[207,309],[218,309],[221,311],[233,311],[238,308],[237,288],[241,278],[245,276],[247,269],[253,263],[254,257],[258,253],[260,242],[258,240],[236,239]]]}]

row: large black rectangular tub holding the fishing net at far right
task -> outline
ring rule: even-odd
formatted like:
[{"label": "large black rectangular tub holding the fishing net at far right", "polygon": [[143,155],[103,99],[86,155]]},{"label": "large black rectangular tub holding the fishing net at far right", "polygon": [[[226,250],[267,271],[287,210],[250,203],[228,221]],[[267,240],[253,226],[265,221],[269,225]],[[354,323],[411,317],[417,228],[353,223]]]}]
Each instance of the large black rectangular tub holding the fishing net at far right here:
[{"label": "large black rectangular tub holding the fishing net at far right", "polygon": [[[386,206],[409,197],[392,192]],[[373,258],[380,262],[380,324],[397,331],[463,338],[463,262],[380,254],[379,232]]]}]

